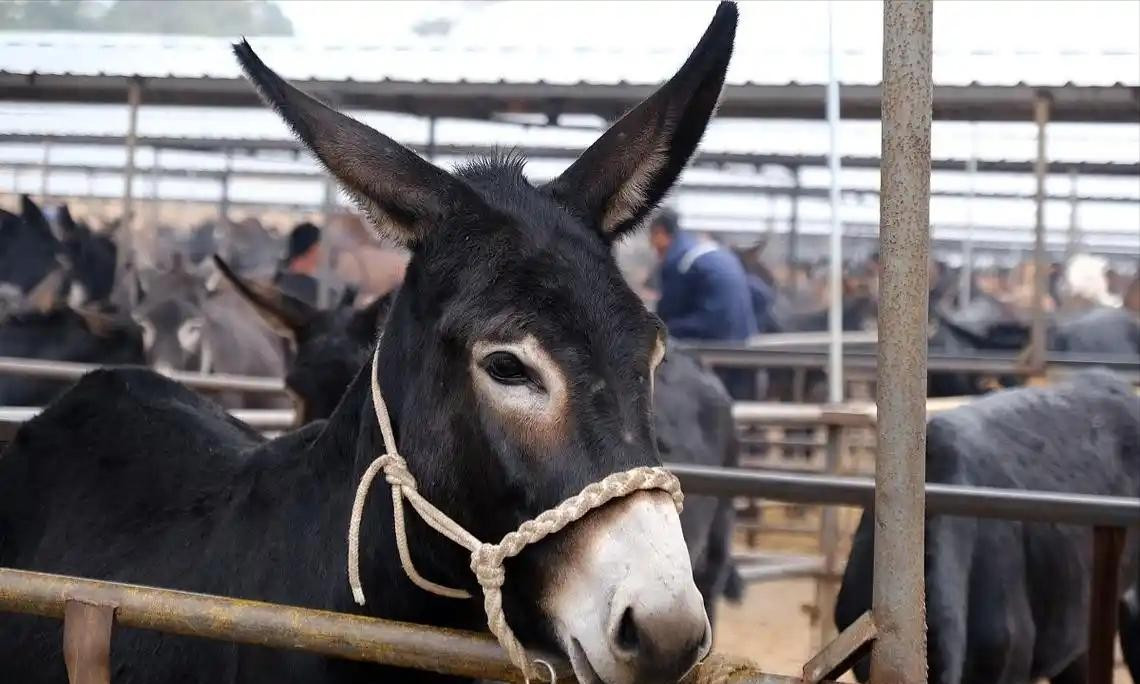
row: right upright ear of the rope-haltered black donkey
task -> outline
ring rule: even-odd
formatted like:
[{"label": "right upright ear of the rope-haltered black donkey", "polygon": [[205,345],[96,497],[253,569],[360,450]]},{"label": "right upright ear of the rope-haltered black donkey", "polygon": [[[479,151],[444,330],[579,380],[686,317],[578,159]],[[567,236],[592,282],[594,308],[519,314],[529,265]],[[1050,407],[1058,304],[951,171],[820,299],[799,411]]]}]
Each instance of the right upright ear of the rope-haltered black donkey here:
[{"label": "right upright ear of the rope-haltered black donkey", "polygon": [[554,196],[609,238],[637,227],[705,135],[735,34],[736,6],[722,2],[681,71],[551,181]]}]

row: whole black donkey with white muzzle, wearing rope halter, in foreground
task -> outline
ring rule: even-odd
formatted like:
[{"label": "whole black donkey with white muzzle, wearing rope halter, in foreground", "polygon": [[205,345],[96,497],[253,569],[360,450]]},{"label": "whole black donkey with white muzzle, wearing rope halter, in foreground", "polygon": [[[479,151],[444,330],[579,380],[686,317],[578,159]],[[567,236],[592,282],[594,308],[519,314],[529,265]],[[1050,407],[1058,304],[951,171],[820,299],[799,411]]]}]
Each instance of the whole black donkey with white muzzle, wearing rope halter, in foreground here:
[{"label": "whole black donkey with white muzzle, wearing rope halter, in foreground", "polygon": [[[677,74],[542,186],[514,156],[448,173],[302,93],[247,43],[246,75],[373,222],[412,249],[375,361],[327,422],[272,441],[146,369],[98,370],[25,423],[0,457],[0,565],[170,586],[455,628],[480,601],[427,594],[394,551],[384,491],[353,491],[381,454],[383,398],[418,491],[496,540],[613,473],[660,464],[652,374],[663,327],[611,253],[660,202],[716,108],[735,35],[722,3]],[[377,481],[376,489],[386,487]],[[420,573],[478,594],[470,557],[409,514]],[[528,644],[583,682],[671,682],[709,648],[674,499],[638,491],[527,546],[503,605]],[[0,671],[58,682],[58,625],[0,620]],[[435,682],[302,653],[120,630],[117,684]]]}]

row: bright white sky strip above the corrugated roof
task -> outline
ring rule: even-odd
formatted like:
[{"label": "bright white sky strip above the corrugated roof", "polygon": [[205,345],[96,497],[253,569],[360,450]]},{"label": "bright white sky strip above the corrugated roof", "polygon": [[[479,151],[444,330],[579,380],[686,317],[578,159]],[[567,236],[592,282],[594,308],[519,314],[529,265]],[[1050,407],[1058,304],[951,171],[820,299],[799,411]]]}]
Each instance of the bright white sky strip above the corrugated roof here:
[{"label": "bright white sky strip above the corrugated roof", "polygon": [[[447,38],[459,43],[597,46],[690,44],[711,16],[714,0],[608,2],[287,0],[282,9],[299,38],[323,42],[400,40],[414,27],[445,19]],[[834,3],[839,47],[878,51],[882,5]],[[825,2],[776,0],[740,3],[738,41],[769,49],[825,49]],[[1108,1],[953,0],[935,3],[935,49],[939,51],[1140,51],[1140,3]]]}]

